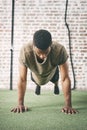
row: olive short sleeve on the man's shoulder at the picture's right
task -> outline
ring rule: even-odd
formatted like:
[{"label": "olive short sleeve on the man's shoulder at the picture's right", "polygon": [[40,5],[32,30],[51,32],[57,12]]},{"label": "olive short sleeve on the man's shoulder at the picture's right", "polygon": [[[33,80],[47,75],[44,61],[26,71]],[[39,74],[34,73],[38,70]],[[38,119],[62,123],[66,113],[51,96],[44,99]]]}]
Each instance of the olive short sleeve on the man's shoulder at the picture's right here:
[{"label": "olive short sleeve on the man's shoulder at the picture's right", "polygon": [[68,59],[68,54],[64,46],[62,46],[59,56],[59,65],[64,64]]}]

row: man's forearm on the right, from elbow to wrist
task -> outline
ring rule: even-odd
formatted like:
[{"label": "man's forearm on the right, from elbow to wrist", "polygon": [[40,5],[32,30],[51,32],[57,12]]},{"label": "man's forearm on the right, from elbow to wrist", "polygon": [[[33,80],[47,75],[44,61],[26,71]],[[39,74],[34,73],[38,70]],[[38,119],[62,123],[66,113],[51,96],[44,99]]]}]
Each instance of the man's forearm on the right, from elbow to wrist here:
[{"label": "man's forearm on the right, from elbow to wrist", "polygon": [[62,81],[62,89],[65,97],[65,106],[72,107],[71,103],[71,81],[69,77],[66,77]]}]

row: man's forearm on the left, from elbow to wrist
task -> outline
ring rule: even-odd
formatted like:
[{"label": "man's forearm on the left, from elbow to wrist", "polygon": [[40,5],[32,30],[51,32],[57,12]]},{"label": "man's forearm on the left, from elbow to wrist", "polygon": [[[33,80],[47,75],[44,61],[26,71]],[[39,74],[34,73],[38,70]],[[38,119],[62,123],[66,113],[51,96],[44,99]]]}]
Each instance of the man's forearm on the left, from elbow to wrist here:
[{"label": "man's forearm on the left, from elbow to wrist", "polygon": [[24,105],[24,96],[26,91],[26,81],[18,82],[18,105]]}]

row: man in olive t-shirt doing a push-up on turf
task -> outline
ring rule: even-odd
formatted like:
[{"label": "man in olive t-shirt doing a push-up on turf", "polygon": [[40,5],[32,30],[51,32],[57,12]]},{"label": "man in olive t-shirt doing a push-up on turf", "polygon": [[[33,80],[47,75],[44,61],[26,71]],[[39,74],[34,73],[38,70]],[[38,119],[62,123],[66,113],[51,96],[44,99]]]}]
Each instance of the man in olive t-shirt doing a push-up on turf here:
[{"label": "man in olive t-shirt doing a push-up on turf", "polygon": [[[28,68],[31,70],[32,80],[37,84],[38,88],[52,81],[54,83],[54,93],[58,94],[59,67],[65,98],[65,107],[62,108],[62,112],[66,114],[76,113],[77,111],[72,108],[71,103],[71,82],[67,59],[68,55],[64,46],[53,42],[50,32],[47,30],[36,31],[32,44],[24,45],[20,52],[18,106],[11,111],[19,113],[28,110],[24,105]],[[38,94],[38,91],[36,93]]]}]

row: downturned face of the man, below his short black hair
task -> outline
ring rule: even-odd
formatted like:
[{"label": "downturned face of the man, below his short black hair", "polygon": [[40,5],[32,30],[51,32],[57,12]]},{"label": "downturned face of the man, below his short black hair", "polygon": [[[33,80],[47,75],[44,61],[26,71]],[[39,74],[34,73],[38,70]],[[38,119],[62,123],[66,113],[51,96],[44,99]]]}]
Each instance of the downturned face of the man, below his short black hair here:
[{"label": "downturned face of the man, below his short black hair", "polygon": [[40,50],[36,46],[33,46],[33,50],[35,54],[40,58],[41,60],[44,60],[47,58],[48,54],[50,53],[51,47],[48,47],[46,50]]}]

